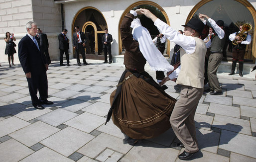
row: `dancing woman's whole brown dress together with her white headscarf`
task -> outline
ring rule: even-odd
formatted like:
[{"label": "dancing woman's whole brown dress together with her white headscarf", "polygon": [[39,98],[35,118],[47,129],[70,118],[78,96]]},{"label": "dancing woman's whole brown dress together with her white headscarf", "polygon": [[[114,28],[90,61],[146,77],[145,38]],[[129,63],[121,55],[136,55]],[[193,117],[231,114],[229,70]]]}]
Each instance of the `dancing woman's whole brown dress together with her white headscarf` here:
[{"label": "dancing woman's whole brown dress together with her white headscarf", "polygon": [[[134,12],[124,17],[120,28],[122,42],[126,48],[124,56],[126,70],[117,89],[110,96],[111,108],[107,122],[112,116],[114,124],[130,138],[149,139],[170,128],[169,118],[176,99],[164,92],[165,88],[144,71],[144,66],[148,61],[153,70],[171,71],[173,67],[167,64],[166,59],[167,63],[164,63],[160,57],[162,54],[157,49],[159,52],[155,54],[159,58],[157,63],[153,63],[154,58],[150,59],[148,52],[152,53],[150,50],[154,49],[143,48],[143,46],[156,47],[144,27],[137,25],[136,22],[131,25]],[[132,32],[136,34],[130,33],[130,26],[133,27]],[[149,38],[145,35],[149,35]]]}]

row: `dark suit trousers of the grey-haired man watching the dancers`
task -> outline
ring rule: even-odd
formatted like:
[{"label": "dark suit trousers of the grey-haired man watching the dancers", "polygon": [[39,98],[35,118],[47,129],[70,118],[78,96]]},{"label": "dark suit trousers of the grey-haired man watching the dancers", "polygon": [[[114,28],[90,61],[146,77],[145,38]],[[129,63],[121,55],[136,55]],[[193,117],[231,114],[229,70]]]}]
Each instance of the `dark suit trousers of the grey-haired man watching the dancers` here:
[{"label": "dark suit trousers of the grey-haired man watching the dancers", "polygon": [[[27,78],[28,89],[32,100],[32,105],[40,104],[40,100],[45,100],[48,97],[48,81],[45,70],[41,72],[31,72],[31,78]],[[39,99],[37,97],[37,90],[39,91]]]}]

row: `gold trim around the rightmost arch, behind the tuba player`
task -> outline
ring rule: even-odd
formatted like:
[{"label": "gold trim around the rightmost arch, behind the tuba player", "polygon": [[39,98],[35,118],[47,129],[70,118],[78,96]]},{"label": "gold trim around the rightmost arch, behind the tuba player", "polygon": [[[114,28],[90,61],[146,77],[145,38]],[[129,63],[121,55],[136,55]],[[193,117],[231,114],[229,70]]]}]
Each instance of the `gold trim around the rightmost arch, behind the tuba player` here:
[{"label": "gold trim around the rightmost arch, behind the tuba player", "polygon": [[[212,0],[201,0],[200,2],[198,2],[192,8],[192,10],[189,12],[187,20],[186,20],[186,24],[192,18],[192,16],[195,14],[195,12],[198,10],[198,8],[200,8],[204,4],[208,3],[209,1],[212,1]],[[255,61],[256,61],[256,10],[255,10],[254,6],[248,0],[236,0],[236,1],[238,1],[241,4],[243,4],[244,6],[246,6],[247,9],[251,12],[253,19],[254,19],[254,35],[253,35],[253,41],[251,43],[252,43],[252,55],[254,56],[253,62],[255,63]]]}]

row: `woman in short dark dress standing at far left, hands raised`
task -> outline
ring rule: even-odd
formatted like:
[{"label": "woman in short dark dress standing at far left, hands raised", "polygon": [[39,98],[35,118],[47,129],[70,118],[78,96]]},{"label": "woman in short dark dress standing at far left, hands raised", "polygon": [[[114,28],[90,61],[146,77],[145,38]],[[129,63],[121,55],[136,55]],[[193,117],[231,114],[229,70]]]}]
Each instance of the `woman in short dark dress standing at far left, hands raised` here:
[{"label": "woman in short dark dress standing at far left, hands raised", "polygon": [[[5,55],[8,55],[8,62],[9,62],[9,67],[11,65],[15,66],[13,64],[13,54],[16,53],[16,50],[14,48],[14,42],[16,38],[14,37],[14,34],[10,34],[8,31],[5,33],[5,38],[4,41],[6,42],[6,47],[5,47]],[[10,60],[11,60],[11,65],[10,65]]]}]

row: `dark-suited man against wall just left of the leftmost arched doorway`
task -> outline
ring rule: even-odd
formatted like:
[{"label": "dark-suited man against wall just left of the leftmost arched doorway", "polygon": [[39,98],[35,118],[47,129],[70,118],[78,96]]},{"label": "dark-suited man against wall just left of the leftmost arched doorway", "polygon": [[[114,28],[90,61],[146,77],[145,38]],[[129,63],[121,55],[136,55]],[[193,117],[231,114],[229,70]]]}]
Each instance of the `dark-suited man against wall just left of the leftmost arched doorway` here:
[{"label": "dark-suited man against wall just left of the leftmost arched doorway", "polygon": [[58,35],[58,39],[59,39],[59,49],[60,49],[60,66],[65,66],[63,64],[63,54],[65,52],[67,66],[69,67],[69,55],[68,55],[69,39],[66,36],[67,32],[68,32],[67,29],[63,29],[62,32]]}]

